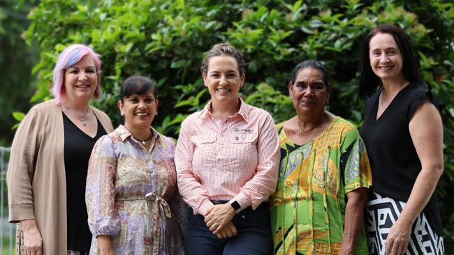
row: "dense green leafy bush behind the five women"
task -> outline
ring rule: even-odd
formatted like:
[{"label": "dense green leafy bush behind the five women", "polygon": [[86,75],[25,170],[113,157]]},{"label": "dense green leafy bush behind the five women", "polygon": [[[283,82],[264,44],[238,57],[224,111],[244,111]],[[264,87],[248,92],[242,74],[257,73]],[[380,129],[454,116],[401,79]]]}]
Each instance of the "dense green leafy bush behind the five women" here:
[{"label": "dense green leafy bush behind the five women", "polygon": [[[446,250],[454,250],[454,6],[432,1],[283,0],[41,1],[29,13],[27,42],[38,42],[40,61],[33,72],[39,84],[34,101],[50,97],[52,68],[72,43],[93,45],[103,61],[101,100],[93,102],[118,124],[117,95],[133,74],[152,77],[161,100],[155,124],[176,137],[182,120],[202,109],[209,95],[200,62],[212,45],[230,42],[247,61],[242,97],[267,109],[275,121],[295,113],[286,84],[291,68],[305,59],[323,61],[333,77],[329,110],[362,123],[358,98],[360,45],[377,24],[406,31],[420,70],[433,93],[446,104],[445,173],[439,183]],[[430,139],[430,138],[428,138]]]}]

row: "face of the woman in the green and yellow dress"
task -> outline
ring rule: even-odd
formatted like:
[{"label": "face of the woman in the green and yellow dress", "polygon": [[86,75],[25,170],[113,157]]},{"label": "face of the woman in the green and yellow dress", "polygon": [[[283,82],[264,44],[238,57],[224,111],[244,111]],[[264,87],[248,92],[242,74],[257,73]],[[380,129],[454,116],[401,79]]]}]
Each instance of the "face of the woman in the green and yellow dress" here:
[{"label": "face of the woman in the green and yellow dress", "polygon": [[295,77],[295,83],[288,83],[293,107],[300,113],[315,114],[324,111],[330,99],[331,86],[323,82],[323,74],[316,68],[302,68]]}]

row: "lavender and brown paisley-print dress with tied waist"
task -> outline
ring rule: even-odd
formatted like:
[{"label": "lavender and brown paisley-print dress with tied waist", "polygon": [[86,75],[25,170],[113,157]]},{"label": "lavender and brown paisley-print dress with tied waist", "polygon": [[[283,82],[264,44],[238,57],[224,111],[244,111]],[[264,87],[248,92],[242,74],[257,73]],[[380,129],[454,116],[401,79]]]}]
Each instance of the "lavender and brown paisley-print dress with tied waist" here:
[{"label": "lavender and brown paisley-print dress with tied waist", "polygon": [[122,125],[94,146],[85,194],[90,254],[100,254],[98,235],[110,235],[115,254],[184,254],[175,141],[152,132],[149,150]]}]

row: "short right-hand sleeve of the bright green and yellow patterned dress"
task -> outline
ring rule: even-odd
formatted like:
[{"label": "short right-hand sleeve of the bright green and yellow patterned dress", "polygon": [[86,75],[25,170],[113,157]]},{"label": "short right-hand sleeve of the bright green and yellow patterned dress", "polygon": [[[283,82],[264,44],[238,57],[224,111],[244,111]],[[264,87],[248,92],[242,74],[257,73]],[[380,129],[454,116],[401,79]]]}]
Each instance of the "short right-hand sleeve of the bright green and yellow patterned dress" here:
[{"label": "short right-hand sleeve of the bright green and yellow patterned dress", "polygon": [[350,130],[342,143],[344,193],[372,185],[372,171],[363,139],[358,130]]}]

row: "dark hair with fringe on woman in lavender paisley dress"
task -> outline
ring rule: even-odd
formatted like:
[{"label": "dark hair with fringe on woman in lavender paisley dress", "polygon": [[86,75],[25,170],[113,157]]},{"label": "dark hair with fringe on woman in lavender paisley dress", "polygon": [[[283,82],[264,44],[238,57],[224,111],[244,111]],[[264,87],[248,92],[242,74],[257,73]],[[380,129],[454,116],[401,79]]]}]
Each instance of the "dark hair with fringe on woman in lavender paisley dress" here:
[{"label": "dark hair with fringe on woman in lavender paisley dress", "polygon": [[156,84],[152,79],[142,75],[133,75],[124,80],[120,89],[119,100],[123,102],[123,98],[129,98],[131,95],[143,95],[148,91],[152,91],[156,96]]}]

